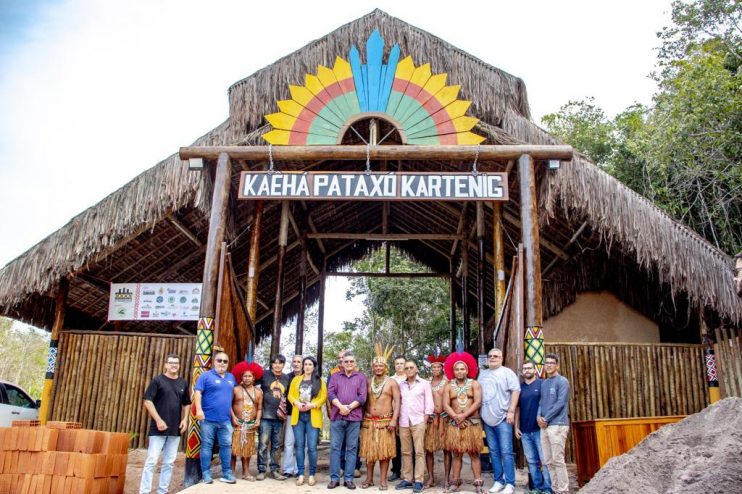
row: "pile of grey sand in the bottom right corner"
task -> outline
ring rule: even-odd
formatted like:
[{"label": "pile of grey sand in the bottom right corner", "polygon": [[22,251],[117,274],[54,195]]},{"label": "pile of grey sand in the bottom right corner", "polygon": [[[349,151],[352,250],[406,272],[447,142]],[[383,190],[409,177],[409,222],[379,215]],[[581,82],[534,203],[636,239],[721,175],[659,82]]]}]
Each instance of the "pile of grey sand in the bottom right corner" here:
[{"label": "pile of grey sand in the bottom right corner", "polygon": [[580,494],[742,492],[742,399],[726,398],[612,458]]}]

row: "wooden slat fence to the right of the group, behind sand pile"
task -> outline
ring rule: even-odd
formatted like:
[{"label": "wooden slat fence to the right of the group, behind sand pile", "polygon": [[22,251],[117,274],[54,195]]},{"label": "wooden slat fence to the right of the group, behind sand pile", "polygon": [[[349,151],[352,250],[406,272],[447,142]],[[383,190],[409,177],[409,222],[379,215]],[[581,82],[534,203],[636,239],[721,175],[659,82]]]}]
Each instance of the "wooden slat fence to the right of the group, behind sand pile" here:
[{"label": "wooden slat fence to the right of the group, behind sand pile", "polygon": [[569,379],[571,420],[690,415],[708,404],[701,345],[547,342],[546,351]]}]

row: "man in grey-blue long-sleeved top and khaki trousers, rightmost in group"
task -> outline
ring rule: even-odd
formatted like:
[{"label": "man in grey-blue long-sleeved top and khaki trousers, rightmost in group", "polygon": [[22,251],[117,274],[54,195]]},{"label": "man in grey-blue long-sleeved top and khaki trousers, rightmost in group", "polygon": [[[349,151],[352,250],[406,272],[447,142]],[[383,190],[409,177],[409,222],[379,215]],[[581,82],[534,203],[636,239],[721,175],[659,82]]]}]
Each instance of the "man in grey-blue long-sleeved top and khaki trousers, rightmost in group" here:
[{"label": "man in grey-blue long-sleeved top and khaki trousers, rightmost in group", "polygon": [[564,445],[569,433],[569,381],[559,374],[559,356],[547,353],[544,357],[547,379],[541,383],[538,426],[541,428],[541,448],[551,476],[555,494],[569,492]]}]

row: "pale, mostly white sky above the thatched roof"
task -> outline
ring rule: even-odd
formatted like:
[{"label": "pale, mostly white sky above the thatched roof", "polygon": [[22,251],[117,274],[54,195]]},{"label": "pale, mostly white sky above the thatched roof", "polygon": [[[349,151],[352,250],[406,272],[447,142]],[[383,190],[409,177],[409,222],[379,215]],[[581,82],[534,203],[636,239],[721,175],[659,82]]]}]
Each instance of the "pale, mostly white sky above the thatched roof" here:
[{"label": "pale, mostly white sky above the thatched roof", "polygon": [[539,123],[650,103],[670,2],[0,0],[0,266],[223,122],[231,84],[374,8],[522,78]]}]

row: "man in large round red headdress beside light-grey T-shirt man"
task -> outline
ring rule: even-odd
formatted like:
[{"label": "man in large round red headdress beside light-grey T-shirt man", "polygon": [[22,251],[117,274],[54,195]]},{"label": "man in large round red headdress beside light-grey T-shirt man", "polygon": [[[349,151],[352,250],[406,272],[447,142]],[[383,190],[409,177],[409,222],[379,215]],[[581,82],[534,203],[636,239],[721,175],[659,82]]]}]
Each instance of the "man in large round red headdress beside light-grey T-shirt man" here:
[{"label": "man in large round red headdress beside light-grey T-shirt man", "polygon": [[448,377],[443,392],[443,408],[449,420],[446,448],[453,455],[451,480],[445,486],[445,491],[458,492],[461,489],[461,464],[464,453],[467,453],[471,459],[475,491],[482,494],[482,467],[479,462],[479,453],[484,446],[479,417],[482,388],[475,379],[477,361],[471,354],[464,352],[459,344],[458,351],[446,358],[443,367]]}]

